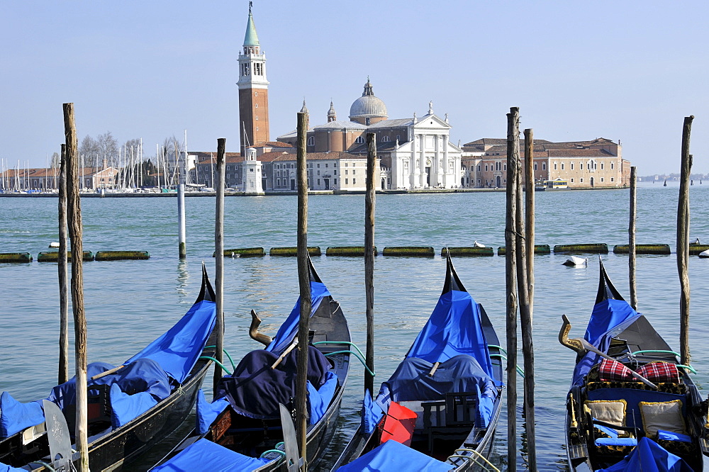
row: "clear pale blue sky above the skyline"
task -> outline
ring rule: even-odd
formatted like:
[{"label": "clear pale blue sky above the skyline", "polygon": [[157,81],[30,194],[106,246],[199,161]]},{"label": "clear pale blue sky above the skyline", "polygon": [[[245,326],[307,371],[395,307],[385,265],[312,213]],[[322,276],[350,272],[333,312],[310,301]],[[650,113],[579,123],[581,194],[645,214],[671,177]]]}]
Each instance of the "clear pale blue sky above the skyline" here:
[{"label": "clear pale blue sky above the skyline", "polygon": [[[145,155],[238,150],[237,58],[247,1],[0,2],[0,157],[41,167],[63,141],[143,137]],[[506,113],[547,140],[621,140],[640,175],[709,172],[709,6],[703,1],[275,1],[253,14],[267,55],[271,138],[335,103],[347,118],[371,77],[390,118],[449,114],[451,141],[505,137]]]}]

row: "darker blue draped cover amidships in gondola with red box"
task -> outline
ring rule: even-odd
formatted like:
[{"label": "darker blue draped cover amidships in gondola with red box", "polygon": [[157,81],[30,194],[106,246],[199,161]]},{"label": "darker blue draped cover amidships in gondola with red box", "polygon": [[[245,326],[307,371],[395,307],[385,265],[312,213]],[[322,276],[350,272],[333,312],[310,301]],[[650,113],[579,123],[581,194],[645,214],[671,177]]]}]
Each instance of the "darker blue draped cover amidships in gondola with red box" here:
[{"label": "darker blue draped cover amidships in gondola with red box", "polygon": [[409,357],[398,365],[388,381],[381,384],[377,403],[390,401],[443,400],[446,393],[476,392],[478,419],[476,425],[487,427],[497,397],[495,382],[472,356],[459,354],[442,362],[434,376],[429,376],[433,364]]}]

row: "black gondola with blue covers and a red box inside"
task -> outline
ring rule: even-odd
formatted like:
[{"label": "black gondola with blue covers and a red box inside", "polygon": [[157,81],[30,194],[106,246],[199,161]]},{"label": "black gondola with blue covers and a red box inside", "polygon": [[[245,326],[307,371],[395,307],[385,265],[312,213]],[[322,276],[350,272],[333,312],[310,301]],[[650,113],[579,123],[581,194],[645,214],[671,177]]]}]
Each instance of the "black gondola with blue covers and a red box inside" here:
[{"label": "black gondola with blue covers and a red box inside", "polygon": [[[471,471],[488,457],[501,410],[501,347],[450,254],[428,322],[374,401],[333,471]],[[407,447],[408,446],[408,447]],[[491,467],[493,468],[493,467]]]}]

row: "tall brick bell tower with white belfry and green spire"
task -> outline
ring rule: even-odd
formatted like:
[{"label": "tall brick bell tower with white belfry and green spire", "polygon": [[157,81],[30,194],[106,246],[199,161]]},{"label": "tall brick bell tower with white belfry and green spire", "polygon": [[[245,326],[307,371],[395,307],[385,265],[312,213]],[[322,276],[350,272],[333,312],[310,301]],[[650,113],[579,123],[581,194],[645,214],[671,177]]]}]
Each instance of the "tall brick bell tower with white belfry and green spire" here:
[{"label": "tall brick bell tower with white belfry and green spire", "polygon": [[269,140],[266,55],[261,50],[249,2],[244,46],[239,54],[239,136],[241,155],[248,147]]}]

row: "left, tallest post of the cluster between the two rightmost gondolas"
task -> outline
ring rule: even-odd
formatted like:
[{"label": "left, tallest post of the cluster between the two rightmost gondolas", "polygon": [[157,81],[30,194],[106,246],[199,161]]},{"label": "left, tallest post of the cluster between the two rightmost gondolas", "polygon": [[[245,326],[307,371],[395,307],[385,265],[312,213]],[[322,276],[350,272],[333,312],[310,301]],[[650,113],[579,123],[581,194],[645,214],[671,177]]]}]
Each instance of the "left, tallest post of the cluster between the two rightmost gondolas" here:
[{"label": "left, tallest post of the cluster between the two rightmost gondolas", "polygon": [[[518,107],[510,108],[507,114],[507,215],[505,223],[505,286],[507,307],[507,462],[508,471],[517,470],[517,245],[515,229],[517,216],[517,187],[510,182],[510,169],[519,159]],[[515,150],[516,142],[516,150]],[[517,153],[515,155],[515,152]]]}]

